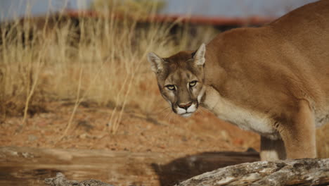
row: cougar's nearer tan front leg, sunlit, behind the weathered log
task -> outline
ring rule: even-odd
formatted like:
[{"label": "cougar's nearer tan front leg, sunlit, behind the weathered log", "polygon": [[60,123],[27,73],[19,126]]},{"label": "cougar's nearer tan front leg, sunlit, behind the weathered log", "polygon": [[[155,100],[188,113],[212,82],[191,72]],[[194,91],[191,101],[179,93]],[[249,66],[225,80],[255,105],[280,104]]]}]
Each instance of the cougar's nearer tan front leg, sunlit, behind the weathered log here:
[{"label": "cougar's nearer tan front leg, sunlit, behind the weathered log", "polygon": [[288,159],[316,158],[314,114],[307,101],[299,101],[298,111],[280,126]]}]

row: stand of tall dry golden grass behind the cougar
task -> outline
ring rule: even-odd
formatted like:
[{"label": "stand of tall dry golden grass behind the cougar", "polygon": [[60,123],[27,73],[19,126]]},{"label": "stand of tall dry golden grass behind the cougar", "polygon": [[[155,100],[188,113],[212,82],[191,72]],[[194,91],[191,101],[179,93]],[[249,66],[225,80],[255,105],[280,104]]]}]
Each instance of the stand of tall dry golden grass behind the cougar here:
[{"label": "stand of tall dry golden grass behind the cougar", "polygon": [[[154,113],[164,107],[146,55],[169,56],[196,49],[216,32],[195,28],[198,37],[179,23],[138,23],[138,16],[93,17],[65,13],[44,18],[17,19],[1,24],[1,116],[22,114],[22,123],[46,101],[82,101],[113,108],[107,130],[115,134],[124,109]],[[145,15],[143,15],[145,16]],[[175,24],[184,29],[170,33]]]}]

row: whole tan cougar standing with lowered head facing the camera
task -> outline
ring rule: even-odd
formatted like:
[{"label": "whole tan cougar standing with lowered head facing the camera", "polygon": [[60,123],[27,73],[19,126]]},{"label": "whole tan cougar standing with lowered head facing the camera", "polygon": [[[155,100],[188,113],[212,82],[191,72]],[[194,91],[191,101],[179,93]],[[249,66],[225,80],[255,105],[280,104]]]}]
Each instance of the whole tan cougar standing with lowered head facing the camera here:
[{"label": "whole tan cougar standing with lowered head facing the camera", "polygon": [[329,1],[148,61],[174,113],[203,106],[259,133],[262,160],[316,157],[316,128],[329,122]]}]

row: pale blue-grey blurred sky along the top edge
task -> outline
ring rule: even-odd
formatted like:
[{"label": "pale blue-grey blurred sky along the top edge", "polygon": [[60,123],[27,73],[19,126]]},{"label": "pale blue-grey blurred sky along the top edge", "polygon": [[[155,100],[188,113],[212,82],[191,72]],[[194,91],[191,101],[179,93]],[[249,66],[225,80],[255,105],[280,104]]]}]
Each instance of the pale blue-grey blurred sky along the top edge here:
[{"label": "pale blue-grey blurred sky along the top edge", "polygon": [[[1,1],[0,12],[2,19],[24,16],[26,7],[31,6],[32,15],[42,15],[49,11],[56,12],[63,9],[87,10],[97,0],[13,0]],[[224,17],[278,17],[294,8],[315,0],[159,0],[163,7],[159,11],[162,15],[198,15]]]}]

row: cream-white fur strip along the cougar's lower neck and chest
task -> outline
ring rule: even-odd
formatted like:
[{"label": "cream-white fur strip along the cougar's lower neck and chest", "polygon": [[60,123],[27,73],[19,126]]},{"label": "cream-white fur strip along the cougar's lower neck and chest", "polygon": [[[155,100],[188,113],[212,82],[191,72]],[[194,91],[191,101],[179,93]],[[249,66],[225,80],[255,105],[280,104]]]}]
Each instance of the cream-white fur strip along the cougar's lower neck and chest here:
[{"label": "cream-white fur strip along the cougar's lower neck and chest", "polygon": [[233,104],[232,101],[221,97],[215,89],[207,88],[202,106],[212,111],[221,120],[237,125],[243,130],[257,132],[259,135],[269,137],[273,140],[279,137],[278,132],[273,128],[271,118],[264,113],[248,111]]}]

